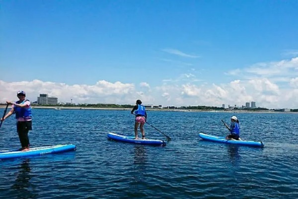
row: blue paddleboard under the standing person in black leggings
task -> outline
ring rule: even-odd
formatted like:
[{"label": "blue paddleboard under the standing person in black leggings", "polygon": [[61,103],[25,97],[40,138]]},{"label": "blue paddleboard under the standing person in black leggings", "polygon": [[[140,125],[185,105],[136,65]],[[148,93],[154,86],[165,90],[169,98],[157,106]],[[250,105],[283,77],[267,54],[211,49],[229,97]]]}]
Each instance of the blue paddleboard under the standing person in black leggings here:
[{"label": "blue paddleboard under the standing person in black leggings", "polygon": [[74,144],[65,144],[65,145],[55,145],[55,146],[43,146],[30,148],[29,151],[19,151],[19,150],[0,150],[0,159],[10,159],[26,156],[35,156],[35,155],[46,155],[53,153],[61,153],[66,151],[74,151]]}]

